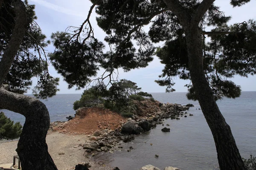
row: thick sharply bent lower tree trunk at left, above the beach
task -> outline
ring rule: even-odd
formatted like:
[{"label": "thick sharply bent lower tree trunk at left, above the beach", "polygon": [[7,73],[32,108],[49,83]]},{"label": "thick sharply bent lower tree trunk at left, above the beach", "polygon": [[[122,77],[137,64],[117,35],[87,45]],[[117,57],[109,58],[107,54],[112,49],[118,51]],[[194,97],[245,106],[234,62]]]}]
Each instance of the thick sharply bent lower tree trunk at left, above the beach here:
[{"label": "thick sharply bent lower tree trunk at left, above the beach", "polygon": [[50,118],[44,103],[0,88],[0,108],[26,117],[16,149],[22,170],[57,170],[45,140]]}]

